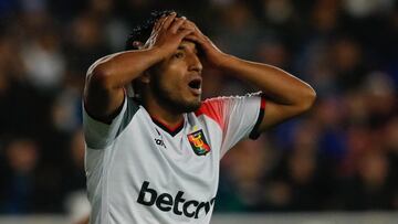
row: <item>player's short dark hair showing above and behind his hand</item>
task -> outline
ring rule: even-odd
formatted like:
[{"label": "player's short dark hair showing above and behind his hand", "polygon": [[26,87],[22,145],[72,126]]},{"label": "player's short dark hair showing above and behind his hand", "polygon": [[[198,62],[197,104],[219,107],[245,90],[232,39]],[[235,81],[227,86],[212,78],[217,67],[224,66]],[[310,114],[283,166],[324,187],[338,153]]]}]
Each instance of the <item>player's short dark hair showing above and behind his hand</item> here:
[{"label": "player's short dark hair showing above and behind his hand", "polygon": [[[165,11],[154,11],[150,13],[150,17],[147,21],[145,21],[143,24],[136,26],[133,29],[133,32],[127,36],[126,41],[126,47],[125,50],[137,50],[136,46],[133,45],[133,42],[139,41],[142,43],[145,43],[154,28],[154,24],[156,21],[158,21],[164,15],[169,15],[171,12],[176,12],[175,10],[165,10]],[[182,17],[177,12],[177,18]]]}]

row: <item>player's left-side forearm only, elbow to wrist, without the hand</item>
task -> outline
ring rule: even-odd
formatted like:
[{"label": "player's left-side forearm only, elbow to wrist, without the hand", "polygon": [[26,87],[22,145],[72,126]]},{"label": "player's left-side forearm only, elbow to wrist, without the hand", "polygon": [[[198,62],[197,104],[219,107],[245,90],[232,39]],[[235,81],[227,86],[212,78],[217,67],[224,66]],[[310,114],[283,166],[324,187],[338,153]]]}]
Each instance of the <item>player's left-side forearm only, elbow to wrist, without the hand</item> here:
[{"label": "player's left-side forearm only, elbow to wrist, without the hand", "polygon": [[164,58],[161,50],[137,50],[108,55],[88,70],[88,78],[98,79],[106,88],[123,87]]}]

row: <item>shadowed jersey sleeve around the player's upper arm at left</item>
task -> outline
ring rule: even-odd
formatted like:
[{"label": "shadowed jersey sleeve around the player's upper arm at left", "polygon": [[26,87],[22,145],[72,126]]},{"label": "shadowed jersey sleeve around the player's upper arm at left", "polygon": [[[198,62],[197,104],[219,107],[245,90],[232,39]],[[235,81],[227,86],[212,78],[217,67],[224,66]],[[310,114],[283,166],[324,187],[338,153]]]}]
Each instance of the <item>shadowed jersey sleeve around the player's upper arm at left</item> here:
[{"label": "shadowed jersey sleeve around the player's upper arm at left", "polygon": [[138,108],[133,99],[125,96],[119,114],[111,124],[105,124],[91,117],[83,103],[83,131],[87,147],[92,149],[108,147],[127,126]]}]

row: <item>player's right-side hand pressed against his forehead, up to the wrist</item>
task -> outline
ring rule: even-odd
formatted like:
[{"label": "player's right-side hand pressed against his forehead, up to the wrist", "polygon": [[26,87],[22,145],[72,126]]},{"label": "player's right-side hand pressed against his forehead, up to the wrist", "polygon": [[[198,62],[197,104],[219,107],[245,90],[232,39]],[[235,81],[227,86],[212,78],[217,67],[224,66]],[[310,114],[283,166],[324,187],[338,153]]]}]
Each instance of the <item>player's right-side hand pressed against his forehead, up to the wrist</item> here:
[{"label": "player's right-side hand pressed against his forehead, up to the wrist", "polygon": [[185,39],[199,44],[200,50],[203,52],[203,60],[207,64],[213,66],[214,68],[219,68],[224,64],[228,55],[219,50],[192,21],[187,20],[182,28],[193,30],[193,32],[185,36]]}]

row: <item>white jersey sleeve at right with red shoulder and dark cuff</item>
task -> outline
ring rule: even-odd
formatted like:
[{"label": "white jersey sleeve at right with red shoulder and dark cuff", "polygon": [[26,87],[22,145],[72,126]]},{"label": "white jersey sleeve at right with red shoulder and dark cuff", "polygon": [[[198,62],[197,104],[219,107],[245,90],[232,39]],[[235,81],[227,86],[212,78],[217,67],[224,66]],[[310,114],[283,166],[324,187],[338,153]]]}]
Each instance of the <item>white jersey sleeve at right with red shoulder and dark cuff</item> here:
[{"label": "white jersey sleeve at right with red shoulder and dark cuff", "polygon": [[200,110],[222,130],[221,154],[244,138],[256,139],[264,116],[265,98],[261,93],[218,97],[203,102]]}]

